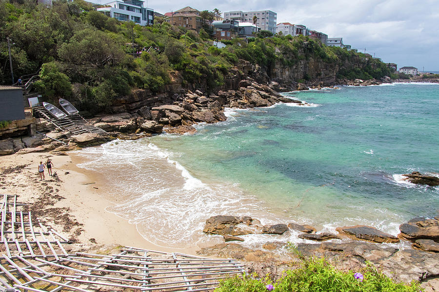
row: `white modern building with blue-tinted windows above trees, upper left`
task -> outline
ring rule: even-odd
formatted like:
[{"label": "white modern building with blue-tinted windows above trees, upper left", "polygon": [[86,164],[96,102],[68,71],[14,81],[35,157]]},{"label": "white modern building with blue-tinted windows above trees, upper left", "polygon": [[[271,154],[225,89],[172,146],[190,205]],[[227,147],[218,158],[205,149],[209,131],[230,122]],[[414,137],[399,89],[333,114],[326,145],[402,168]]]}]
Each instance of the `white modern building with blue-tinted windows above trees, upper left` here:
[{"label": "white modern building with blue-tinted windows above trees, upper left", "polygon": [[99,12],[121,21],[134,21],[140,25],[154,24],[154,10],[143,7],[141,0],[116,0],[107,3],[99,1],[106,7],[98,8]]}]

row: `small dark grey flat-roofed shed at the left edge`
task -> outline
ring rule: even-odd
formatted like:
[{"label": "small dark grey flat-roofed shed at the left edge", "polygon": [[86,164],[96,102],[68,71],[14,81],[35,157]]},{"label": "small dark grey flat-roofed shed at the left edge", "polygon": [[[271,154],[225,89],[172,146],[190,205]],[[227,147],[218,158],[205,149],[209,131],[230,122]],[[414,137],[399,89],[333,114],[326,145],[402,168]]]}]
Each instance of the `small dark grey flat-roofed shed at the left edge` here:
[{"label": "small dark grey flat-roofed shed at the left edge", "polygon": [[23,90],[0,85],[0,121],[24,119]]}]

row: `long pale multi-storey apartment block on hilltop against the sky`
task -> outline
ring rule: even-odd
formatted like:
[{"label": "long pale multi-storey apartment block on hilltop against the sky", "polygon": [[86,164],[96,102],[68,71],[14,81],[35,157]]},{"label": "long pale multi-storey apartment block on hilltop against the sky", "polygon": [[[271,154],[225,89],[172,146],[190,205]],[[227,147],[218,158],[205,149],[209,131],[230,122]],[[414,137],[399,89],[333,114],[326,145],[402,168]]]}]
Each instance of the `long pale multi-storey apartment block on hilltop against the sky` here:
[{"label": "long pale multi-storey apartment block on hilltop against the sky", "polygon": [[253,23],[253,17],[256,16],[256,25],[261,30],[267,30],[276,34],[276,23],[278,14],[271,10],[259,10],[259,11],[229,11],[224,12],[224,20],[238,20],[239,22],[251,22]]}]

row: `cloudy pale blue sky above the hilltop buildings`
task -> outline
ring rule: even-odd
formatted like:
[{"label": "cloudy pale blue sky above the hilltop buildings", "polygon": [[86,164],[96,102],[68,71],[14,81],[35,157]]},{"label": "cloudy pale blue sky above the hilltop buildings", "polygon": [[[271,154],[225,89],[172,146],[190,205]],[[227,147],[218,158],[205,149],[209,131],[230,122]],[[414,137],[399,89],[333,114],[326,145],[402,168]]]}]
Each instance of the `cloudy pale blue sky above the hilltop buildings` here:
[{"label": "cloudy pale blue sky above the hilltop buildings", "polygon": [[221,12],[272,10],[278,23],[343,37],[344,44],[362,52],[366,48],[398,68],[439,71],[439,0],[148,0],[148,7],[160,13],[185,6]]}]

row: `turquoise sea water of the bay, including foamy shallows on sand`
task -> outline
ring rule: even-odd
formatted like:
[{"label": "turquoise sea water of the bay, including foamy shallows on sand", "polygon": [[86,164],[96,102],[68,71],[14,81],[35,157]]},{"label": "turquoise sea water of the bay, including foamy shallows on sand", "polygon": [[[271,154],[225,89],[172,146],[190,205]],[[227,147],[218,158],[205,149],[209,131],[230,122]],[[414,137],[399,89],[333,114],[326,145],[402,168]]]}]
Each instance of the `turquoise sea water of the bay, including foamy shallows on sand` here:
[{"label": "turquoise sea water of the bay, including foamy shallows on sand", "polygon": [[[400,175],[439,172],[438,84],[285,95],[312,106],[227,110],[226,122],[199,125],[195,135],[85,149],[80,166],[105,173],[116,201],[108,211],[163,246],[221,242],[201,232],[220,214],[330,232],[367,224],[393,235],[408,219],[437,214],[439,187]],[[297,235],[249,235],[245,244],[303,242]]]}]

